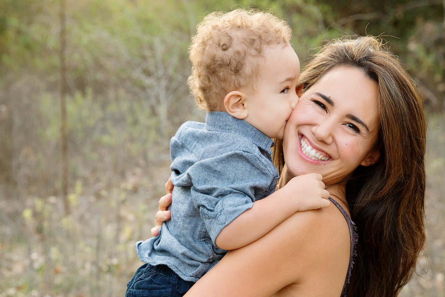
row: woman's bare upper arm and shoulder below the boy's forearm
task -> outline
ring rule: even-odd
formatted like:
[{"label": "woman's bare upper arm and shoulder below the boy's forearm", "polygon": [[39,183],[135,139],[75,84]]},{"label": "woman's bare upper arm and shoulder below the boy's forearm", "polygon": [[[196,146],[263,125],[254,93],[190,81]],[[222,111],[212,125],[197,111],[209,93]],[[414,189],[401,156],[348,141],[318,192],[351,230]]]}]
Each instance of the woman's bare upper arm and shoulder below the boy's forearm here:
[{"label": "woman's bare upper arm and shoulder below the boy's forearm", "polygon": [[233,250],[186,297],[340,296],[348,270],[348,224],[331,204],[296,212],[243,248]]}]

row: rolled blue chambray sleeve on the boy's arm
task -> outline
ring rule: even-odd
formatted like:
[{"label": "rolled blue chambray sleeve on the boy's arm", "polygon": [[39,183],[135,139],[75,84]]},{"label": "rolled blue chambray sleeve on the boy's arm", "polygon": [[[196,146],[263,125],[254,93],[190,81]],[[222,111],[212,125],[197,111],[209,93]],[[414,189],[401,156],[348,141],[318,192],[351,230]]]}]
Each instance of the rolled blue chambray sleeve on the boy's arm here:
[{"label": "rolled blue chambray sleeve on the boy's arm", "polygon": [[219,232],[250,209],[255,197],[264,197],[274,190],[275,176],[251,152],[228,152],[199,161],[189,170],[192,203],[215,246]]}]

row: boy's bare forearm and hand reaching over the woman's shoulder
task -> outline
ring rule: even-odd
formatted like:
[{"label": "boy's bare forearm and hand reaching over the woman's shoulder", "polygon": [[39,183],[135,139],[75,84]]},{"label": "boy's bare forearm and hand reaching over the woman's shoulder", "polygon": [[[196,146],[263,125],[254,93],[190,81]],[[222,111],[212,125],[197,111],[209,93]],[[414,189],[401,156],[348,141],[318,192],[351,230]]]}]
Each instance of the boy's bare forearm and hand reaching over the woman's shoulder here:
[{"label": "boy's bare forearm and hand reaching over the woman's shoulder", "polygon": [[223,228],[215,244],[227,250],[241,248],[264,236],[295,212],[328,207],[328,197],[321,175],[295,177],[283,188],[255,201],[250,209]]}]

